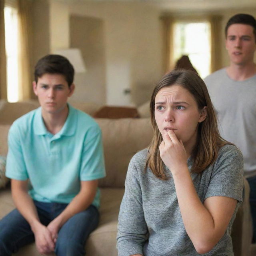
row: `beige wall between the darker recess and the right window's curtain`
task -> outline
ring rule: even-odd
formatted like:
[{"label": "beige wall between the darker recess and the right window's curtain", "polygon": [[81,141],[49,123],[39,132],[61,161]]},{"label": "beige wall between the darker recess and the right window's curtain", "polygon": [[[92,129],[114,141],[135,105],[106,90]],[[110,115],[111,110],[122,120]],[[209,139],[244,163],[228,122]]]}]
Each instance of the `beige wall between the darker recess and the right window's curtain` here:
[{"label": "beige wall between the darker recess and the right window's curtain", "polygon": [[[140,104],[162,76],[160,12],[145,3],[75,2],[70,13],[105,25],[106,103]],[[124,90],[130,88],[131,96]]]}]

